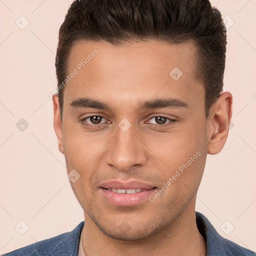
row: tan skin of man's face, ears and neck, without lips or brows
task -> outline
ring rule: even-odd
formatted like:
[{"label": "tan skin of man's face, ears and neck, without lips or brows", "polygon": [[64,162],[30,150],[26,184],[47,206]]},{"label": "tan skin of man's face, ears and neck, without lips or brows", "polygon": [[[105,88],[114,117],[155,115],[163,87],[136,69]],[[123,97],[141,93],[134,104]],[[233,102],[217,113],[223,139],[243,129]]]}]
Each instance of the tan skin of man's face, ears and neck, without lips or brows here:
[{"label": "tan skin of man's face, ears and neck, without lips or brows", "polygon": [[[204,86],[194,75],[192,40],[119,46],[76,41],[67,73],[95,48],[98,53],[65,86],[62,128],[58,98],[53,96],[59,150],[67,172],[75,169],[80,174],[70,184],[84,210],[85,254],[205,255],[195,222],[196,192],[207,153],[218,153],[226,141],[232,95],[223,92],[206,118]],[[169,75],[174,67],[183,73],[178,80]],[[110,109],[72,107],[70,103],[80,97],[103,101]],[[167,97],[182,100],[188,107],[138,110],[145,100]],[[95,125],[90,118],[79,122],[94,115],[103,117],[101,126],[85,126]],[[153,118],[157,116],[176,121],[163,119],[161,124]],[[126,131],[118,126],[123,118],[131,124]],[[137,180],[159,189],[196,152],[200,156],[154,202],[113,205],[100,191],[99,183],[108,180]]]}]

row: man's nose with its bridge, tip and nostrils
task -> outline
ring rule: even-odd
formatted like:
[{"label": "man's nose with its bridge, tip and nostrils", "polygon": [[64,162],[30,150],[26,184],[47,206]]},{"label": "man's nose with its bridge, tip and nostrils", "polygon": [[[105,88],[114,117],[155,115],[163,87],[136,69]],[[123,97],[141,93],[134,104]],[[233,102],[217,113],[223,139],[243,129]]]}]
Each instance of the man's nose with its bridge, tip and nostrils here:
[{"label": "man's nose with its bridge, tip and nostrils", "polygon": [[116,134],[107,145],[106,163],[120,171],[128,171],[134,165],[146,163],[145,147],[132,126],[126,131],[117,127]]}]

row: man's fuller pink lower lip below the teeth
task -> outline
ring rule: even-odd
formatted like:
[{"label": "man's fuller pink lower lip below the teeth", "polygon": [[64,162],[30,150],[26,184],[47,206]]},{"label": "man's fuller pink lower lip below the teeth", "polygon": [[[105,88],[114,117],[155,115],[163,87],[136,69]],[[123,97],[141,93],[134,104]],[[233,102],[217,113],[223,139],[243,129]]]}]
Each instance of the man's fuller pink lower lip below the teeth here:
[{"label": "man's fuller pink lower lip below the teeth", "polygon": [[102,191],[104,197],[115,205],[120,206],[132,206],[136,205],[148,197],[156,190],[156,188],[143,190],[137,193],[116,193],[111,190],[107,190],[105,188],[100,187],[100,191]]}]

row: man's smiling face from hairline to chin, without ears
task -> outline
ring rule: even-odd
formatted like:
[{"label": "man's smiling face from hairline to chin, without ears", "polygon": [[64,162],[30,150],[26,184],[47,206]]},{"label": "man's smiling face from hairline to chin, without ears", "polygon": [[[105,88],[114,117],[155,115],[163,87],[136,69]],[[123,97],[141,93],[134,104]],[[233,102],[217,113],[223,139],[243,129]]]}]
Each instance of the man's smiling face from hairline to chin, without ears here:
[{"label": "man's smiling face from hairline to chin, without ears", "polygon": [[[80,175],[71,186],[85,218],[110,237],[146,238],[194,212],[207,153],[194,55],[192,41],[81,40],[71,49],[67,74],[77,73],[64,90],[60,150]],[[105,107],[77,101],[85,97]]]}]

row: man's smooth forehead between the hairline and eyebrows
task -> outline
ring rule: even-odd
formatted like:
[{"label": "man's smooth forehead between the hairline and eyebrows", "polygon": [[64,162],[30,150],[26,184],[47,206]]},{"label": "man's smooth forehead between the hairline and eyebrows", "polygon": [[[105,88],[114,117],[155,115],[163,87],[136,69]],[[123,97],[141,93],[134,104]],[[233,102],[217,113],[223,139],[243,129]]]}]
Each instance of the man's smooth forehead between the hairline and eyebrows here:
[{"label": "man's smooth forehead between the hairline and eyebrows", "polygon": [[67,74],[74,70],[76,74],[65,86],[64,98],[71,100],[93,91],[99,98],[109,100],[142,95],[151,98],[156,93],[172,93],[186,99],[188,93],[191,95],[189,87],[203,94],[202,84],[195,78],[195,58],[192,40],[178,44],[148,40],[121,45],[78,40],[71,48],[67,70]]}]

